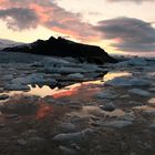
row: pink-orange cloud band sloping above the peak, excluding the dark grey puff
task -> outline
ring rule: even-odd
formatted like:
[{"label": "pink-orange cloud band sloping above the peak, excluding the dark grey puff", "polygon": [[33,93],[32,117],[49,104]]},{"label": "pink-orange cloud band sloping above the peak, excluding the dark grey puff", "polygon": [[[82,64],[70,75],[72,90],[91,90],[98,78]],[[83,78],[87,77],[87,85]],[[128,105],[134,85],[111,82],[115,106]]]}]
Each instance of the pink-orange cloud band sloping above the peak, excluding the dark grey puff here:
[{"label": "pink-orange cloud band sloping above the peak, excluding the dark grey puff", "polygon": [[[70,35],[72,38],[79,39],[79,40],[83,40],[83,41],[96,41],[97,39],[100,39],[96,35],[96,31],[94,31],[92,29],[92,25],[90,25],[86,22],[82,22],[81,21],[81,14],[79,13],[72,13],[69,12],[64,9],[62,9],[61,7],[59,7],[56,3],[50,1],[50,0],[45,0],[45,1],[40,1],[40,0],[0,0],[1,3],[1,9],[6,9],[10,10],[18,8],[18,10],[20,10],[19,8],[22,9],[30,9],[33,10],[35,12],[35,14],[38,16],[38,20],[34,20],[34,22],[29,22],[29,17],[30,14],[24,16],[23,18],[16,18],[14,16],[12,17],[11,13],[10,14],[6,14],[6,17],[11,17],[13,18],[13,20],[16,20],[16,22],[13,22],[13,24],[9,24],[9,29],[14,29],[20,28],[20,30],[22,29],[22,23],[24,23],[24,20],[27,19],[27,23],[31,24],[33,23],[33,25],[42,25],[45,27],[52,31],[65,34],[65,35]],[[20,12],[19,12],[20,14]],[[0,16],[1,18],[1,16]],[[4,20],[2,18],[2,20]],[[6,22],[8,22],[6,20]],[[18,25],[16,25],[18,24]],[[27,25],[27,28],[34,28],[31,25]],[[24,28],[25,29],[25,28]],[[23,30],[24,30],[23,29]]]}]

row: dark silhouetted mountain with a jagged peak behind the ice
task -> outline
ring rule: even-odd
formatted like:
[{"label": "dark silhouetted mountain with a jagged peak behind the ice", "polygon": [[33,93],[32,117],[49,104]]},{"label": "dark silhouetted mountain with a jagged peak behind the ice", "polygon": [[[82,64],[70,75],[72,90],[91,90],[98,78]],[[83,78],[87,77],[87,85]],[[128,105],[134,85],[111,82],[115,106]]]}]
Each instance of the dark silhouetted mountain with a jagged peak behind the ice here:
[{"label": "dark silhouetted mountain with a jagged peak behind the ice", "polygon": [[96,45],[76,43],[63,38],[49,40],[38,40],[30,44],[17,45],[3,49],[6,52],[27,52],[42,55],[72,56],[80,61],[103,64],[105,62],[116,62],[103,49]]}]

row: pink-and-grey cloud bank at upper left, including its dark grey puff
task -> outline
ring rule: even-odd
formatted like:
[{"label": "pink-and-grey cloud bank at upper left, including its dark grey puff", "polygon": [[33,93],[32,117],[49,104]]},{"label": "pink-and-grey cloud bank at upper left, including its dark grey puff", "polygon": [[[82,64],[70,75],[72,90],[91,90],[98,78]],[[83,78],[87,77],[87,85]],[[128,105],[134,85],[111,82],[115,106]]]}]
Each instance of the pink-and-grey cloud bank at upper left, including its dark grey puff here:
[{"label": "pink-and-grey cloud bank at upper left, including its dark grey puff", "polygon": [[[9,29],[25,30],[43,25],[52,31],[70,34],[80,40],[95,40],[92,25],[83,22],[79,13],[59,7],[54,0],[0,0],[0,19]],[[12,8],[12,6],[14,8]]]}]

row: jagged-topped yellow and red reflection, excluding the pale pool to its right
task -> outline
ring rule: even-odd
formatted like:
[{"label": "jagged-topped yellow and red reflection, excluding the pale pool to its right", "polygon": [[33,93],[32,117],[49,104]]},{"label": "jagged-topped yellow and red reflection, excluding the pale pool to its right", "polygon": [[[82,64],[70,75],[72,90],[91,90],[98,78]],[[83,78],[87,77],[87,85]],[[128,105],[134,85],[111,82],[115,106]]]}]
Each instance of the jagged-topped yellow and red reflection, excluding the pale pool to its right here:
[{"label": "jagged-topped yellow and red reflection, excluding the pale pool to its right", "polygon": [[41,97],[51,95],[54,99],[65,97],[65,96],[74,96],[74,97],[86,97],[92,96],[95,92],[97,92],[99,87],[90,87],[90,85],[96,85],[101,84],[103,82],[101,81],[90,81],[90,82],[82,82],[82,83],[75,83],[70,86],[65,86],[63,89],[51,89],[48,85],[44,85],[42,87],[39,87],[35,85],[35,87],[30,86],[30,92],[27,92],[29,95],[39,95]]}]

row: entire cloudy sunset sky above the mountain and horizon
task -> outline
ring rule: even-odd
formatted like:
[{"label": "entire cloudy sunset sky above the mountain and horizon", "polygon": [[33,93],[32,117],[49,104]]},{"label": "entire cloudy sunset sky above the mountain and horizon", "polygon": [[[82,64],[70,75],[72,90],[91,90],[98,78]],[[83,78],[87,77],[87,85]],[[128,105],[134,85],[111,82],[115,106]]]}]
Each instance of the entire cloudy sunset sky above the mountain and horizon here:
[{"label": "entire cloudy sunset sky above the mountain and horizon", "polygon": [[0,39],[51,35],[110,53],[155,53],[155,0],[0,0]]}]

